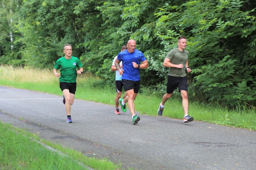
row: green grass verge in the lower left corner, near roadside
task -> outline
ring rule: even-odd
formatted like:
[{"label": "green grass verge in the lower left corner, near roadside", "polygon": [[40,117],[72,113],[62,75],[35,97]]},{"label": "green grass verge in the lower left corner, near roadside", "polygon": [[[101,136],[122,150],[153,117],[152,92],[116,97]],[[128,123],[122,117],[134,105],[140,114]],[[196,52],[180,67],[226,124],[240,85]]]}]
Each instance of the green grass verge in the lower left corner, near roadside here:
[{"label": "green grass verge in the lower left corner, near roadside", "polygon": [[[108,160],[97,160],[68,148],[42,140],[41,142],[61,151],[59,154],[44,148],[35,141],[39,137],[20,128],[0,122],[0,169],[120,169]],[[79,163],[79,162],[80,163]],[[81,163],[83,163],[84,166]]]}]

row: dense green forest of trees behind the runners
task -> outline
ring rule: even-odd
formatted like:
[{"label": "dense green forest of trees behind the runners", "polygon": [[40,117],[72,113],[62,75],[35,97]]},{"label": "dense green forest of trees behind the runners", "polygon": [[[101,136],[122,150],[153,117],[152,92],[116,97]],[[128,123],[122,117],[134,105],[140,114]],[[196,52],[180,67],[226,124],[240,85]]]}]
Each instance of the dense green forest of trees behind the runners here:
[{"label": "dense green forest of trees behind the runners", "polygon": [[[187,37],[189,98],[255,109],[254,0],[1,0],[0,64],[53,69],[71,44],[98,86],[114,84],[111,65],[129,39],[148,60],[142,89],[166,92],[166,54]],[[174,95],[180,95],[175,92]]]}]

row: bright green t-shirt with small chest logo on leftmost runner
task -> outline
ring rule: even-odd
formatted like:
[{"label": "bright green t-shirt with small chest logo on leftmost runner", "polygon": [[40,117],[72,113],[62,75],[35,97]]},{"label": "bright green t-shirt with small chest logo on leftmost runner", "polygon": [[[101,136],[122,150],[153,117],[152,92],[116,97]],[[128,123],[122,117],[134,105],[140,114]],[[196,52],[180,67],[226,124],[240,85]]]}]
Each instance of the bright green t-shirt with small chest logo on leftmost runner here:
[{"label": "bright green t-shirt with small chest logo on leftmost runner", "polygon": [[60,68],[59,82],[75,83],[77,78],[76,69],[83,66],[77,57],[71,56],[68,60],[65,57],[59,58],[54,64],[55,69]]}]

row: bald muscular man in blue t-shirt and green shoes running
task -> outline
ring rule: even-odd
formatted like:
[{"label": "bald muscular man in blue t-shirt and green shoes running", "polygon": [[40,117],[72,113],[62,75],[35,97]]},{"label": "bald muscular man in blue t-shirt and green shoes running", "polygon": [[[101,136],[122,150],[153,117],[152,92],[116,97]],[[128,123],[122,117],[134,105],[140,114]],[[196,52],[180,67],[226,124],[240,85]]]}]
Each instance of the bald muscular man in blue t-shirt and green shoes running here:
[{"label": "bald muscular man in blue t-shirt and green shoes running", "polygon": [[[128,106],[133,119],[133,125],[135,125],[140,120],[140,117],[135,115],[135,106],[133,102],[139,92],[140,87],[139,70],[147,69],[148,61],[141,51],[135,49],[135,40],[129,40],[126,46],[128,49],[118,53],[117,59],[115,60],[115,66],[120,75],[122,75],[123,87],[127,92],[126,98],[119,99],[119,103],[121,104],[121,109],[123,112],[125,112],[125,103],[128,102]],[[123,63],[123,69],[120,68],[121,61]]]}]

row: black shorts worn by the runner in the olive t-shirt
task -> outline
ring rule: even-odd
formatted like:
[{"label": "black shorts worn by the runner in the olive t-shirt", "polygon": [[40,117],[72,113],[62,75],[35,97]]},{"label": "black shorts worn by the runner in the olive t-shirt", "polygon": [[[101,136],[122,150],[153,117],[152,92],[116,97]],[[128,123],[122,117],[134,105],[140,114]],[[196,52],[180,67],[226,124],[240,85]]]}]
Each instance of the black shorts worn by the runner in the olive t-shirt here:
[{"label": "black shorts worn by the runner in the olive t-shirt", "polygon": [[168,80],[167,80],[167,89],[166,93],[171,94],[175,89],[179,89],[179,92],[181,90],[187,91],[187,76],[184,77],[174,77],[168,75]]}]

